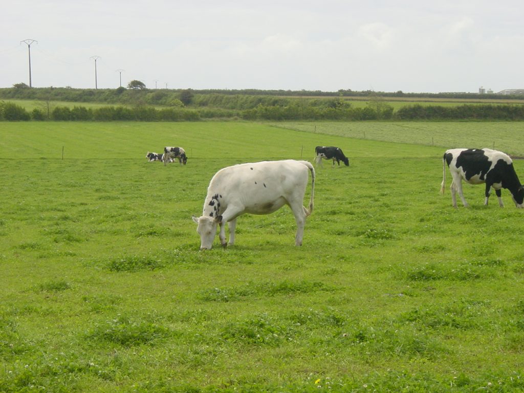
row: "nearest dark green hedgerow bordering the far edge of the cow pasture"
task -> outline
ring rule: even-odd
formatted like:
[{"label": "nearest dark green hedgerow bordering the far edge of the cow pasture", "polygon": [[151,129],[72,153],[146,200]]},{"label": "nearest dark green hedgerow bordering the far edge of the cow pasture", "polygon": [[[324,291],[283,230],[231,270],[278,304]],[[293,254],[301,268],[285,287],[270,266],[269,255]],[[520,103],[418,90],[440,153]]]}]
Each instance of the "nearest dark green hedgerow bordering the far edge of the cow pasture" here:
[{"label": "nearest dark green hedgerow bordering the far edge of the cow pasture", "polygon": [[524,121],[524,105],[466,104],[457,106],[407,105],[394,112],[387,103],[369,101],[365,107],[352,107],[343,100],[330,105],[264,105],[246,110],[223,108],[188,108],[183,106],[155,108],[153,106],[56,106],[34,108],[28,112],[12,102],[0,102],[0,120],[3,121],[199,121],[202,119],[241,118],[260,121],[296,120],[504,120]]}]

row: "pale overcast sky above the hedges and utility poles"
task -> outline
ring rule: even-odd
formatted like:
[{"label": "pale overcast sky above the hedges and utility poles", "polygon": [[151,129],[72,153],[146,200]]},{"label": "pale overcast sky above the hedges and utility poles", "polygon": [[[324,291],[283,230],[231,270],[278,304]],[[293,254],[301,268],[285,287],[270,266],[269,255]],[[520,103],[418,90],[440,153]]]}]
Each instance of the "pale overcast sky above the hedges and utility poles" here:
[{"label": "pale overcast sky above the hedges and utility poles", "polygon": [[522,0],[5,3],[0,88],[524,88]]}]

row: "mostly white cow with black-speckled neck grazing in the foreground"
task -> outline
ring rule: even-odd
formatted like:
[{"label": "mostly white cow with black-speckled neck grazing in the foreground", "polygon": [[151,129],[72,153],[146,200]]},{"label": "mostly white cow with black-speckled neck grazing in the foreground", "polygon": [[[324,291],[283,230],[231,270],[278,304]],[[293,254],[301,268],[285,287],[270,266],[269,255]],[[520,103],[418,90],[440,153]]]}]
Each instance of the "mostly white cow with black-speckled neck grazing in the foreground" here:
[{"label": "mostly white cow with black-speckled neck grazing in the foreground", "polygon": [[[303,206],[305,187],[311,171],[309,210]],[[308,161],[283,160],[243,163],[215,173],[208,187],[198,224],[200,249],[211,249],[220,224],[220,243],[227,246],[225,223],[229,223],[229,244],[235,242],[236,218],[244,213],[270,214],[288,205],[297,222],[295,245],[302,245],[305,217],[313,211],[315,170]]]}]

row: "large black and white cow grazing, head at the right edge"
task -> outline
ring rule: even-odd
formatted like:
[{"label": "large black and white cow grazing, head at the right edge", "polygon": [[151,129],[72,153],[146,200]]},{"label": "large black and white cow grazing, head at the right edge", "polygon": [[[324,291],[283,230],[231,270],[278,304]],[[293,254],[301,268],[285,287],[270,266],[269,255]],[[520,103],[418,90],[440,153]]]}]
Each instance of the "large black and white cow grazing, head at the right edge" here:
[{"label": "large black and white cow grazing, head at the right edge", "polygon": [[451,177],[451,200],[453,206],[457,207],[456,192],[462,203],[467,207],[466,199],[462,192],[462,180],[470,184],[486,183],[486,199],[488,204],[489,193],[493,188],[497,194],[498,203],[502,202],[501,188],[508,189],[517,208],[524,207],[524,188],[520,184],[513,161],[501,151],[492,149],[450,149],[446,150],[442,158],[442,184],[440,192],[444,192],[446,181],[446,164],[450,168]]}]

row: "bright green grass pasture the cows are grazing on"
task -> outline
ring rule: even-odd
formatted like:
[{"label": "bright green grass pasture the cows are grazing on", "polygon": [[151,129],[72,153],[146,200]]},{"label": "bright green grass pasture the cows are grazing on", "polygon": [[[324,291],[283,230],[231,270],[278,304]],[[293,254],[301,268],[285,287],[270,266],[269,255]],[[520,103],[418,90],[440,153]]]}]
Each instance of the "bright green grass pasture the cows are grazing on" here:
[{"label": "bright green grass pasture the cows are grazing on", "polygon": [[[244,122],[1,127],[0,391],[524,389],[524,212],[470,185],[453,209],[445,148]],[[444,146],[483,147],[469,127]],[[168,145],[187,166],[147,162]],[[316,171],[302,247],[283,208],[199,251],[218,169],[316,145],[351,166]]]}]

